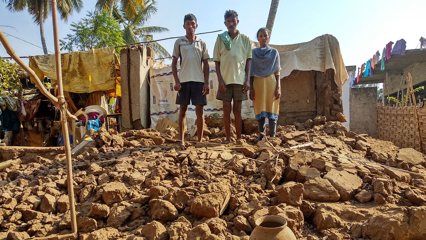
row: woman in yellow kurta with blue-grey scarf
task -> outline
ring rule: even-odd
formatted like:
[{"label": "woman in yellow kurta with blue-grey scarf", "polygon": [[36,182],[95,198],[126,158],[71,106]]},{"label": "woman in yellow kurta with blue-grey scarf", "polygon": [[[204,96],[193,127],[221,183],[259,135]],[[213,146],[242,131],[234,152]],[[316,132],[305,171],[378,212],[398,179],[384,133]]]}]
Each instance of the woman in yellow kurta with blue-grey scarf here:
[{"label": "woman in yellow kurta with blue-grey scarf", "polygon": [[278,50],[268,46],[269,30],[261,28],[257,31],[260,47],[253,49],[250,71],[250,99],[253,101],[254,114],[259,126],[259,139],[265,134],[265,120],[268,117],[269,136],[275,137],[276,121],[279,114],[279,98],[281,84],[279,80]]}]

